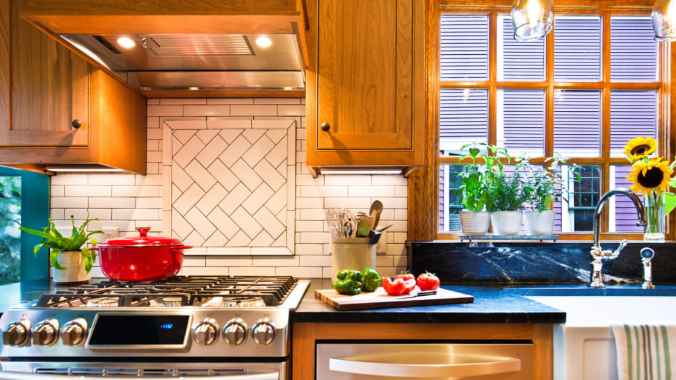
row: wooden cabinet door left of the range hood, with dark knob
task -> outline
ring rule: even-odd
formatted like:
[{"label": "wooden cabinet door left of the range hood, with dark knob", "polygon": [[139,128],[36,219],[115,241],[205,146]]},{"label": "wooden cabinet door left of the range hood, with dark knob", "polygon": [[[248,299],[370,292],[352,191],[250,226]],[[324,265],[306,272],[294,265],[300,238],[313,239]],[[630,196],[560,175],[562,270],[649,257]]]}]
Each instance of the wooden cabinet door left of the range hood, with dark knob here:
[{"label": "wooden cabinet door left of the range hood, with dark knob", "polygon": [[22,6],[22,0],[11,1],[11,117],[0,145],[87,146],[89,64],[21,19]]}]

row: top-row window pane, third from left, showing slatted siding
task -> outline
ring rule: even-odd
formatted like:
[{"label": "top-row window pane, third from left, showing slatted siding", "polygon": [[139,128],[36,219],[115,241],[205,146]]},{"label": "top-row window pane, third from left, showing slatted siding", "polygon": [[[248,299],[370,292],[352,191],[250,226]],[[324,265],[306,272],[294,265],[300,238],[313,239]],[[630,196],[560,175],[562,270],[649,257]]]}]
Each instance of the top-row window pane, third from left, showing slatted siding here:
[{"label": "top-row window pane, third from left, showing slatted siding", "polygon": [[601,17],[554,17],[554,80],[601,80]]}]

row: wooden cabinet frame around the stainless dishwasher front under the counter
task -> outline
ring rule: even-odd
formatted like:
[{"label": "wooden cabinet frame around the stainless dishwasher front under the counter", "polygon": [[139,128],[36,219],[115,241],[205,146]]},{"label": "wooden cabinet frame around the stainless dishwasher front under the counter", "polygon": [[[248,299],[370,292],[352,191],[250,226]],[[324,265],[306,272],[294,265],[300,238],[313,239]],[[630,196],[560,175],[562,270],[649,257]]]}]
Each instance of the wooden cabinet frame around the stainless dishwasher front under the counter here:
[{"label": "wooden cabinet frame around the stainless dishwasher front under the counter", "polygon": [[[553,376],[552,324],[451,324],[451,323],[294,323],[291,342],[291,375],[294,380],[314,380],[315,347],[319,340],[467,340],[487,342],[533,342],[533,379]],[[358,343],[358,342],[355,342]],[[405,343],[404,343],[405,344]]]}]

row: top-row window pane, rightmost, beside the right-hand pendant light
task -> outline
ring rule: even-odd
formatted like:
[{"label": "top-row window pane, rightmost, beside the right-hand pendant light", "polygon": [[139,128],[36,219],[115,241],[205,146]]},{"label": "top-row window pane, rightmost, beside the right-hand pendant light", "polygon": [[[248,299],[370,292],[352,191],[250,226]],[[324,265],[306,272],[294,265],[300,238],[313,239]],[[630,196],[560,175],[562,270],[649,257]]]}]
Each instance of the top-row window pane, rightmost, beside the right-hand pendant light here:
[{"label": "top-row window pane, rightmost, beside the right-hand pendant light", "polygon": [[657,42],[650,17],[611,17],[611,81],[657,81]]}]

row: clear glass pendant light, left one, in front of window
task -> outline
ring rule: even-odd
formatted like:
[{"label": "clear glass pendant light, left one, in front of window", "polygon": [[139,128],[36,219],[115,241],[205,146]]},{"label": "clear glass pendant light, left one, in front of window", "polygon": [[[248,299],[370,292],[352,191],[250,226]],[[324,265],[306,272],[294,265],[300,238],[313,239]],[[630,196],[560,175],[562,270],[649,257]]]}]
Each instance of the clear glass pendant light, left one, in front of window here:
[{"label": "clear glass pendant light, left one, in front of window", "polygon": [[514,0],[512,24],[517,41],[537,40],[552,30],[554,0]]}]

